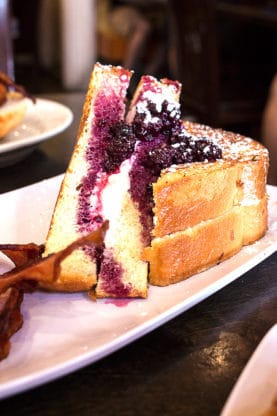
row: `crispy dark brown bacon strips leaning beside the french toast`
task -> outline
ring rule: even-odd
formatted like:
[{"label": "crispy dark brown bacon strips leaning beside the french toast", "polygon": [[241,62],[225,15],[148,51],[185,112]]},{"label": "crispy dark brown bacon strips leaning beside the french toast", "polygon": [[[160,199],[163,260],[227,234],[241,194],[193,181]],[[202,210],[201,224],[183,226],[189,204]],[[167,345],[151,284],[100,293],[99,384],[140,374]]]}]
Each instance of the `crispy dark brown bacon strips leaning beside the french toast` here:
[{"label": "crispy dark brown bacon strips leaning beside the french toast", "polygon": [[77,248],[88,245],[95,249],[102,247],[107,228],[106,221],[98,230],[45,258],[41,257],[42,245],[0,245],[0,251],[16,265],[14,269],[0,276],[0,360],[7,357],[10,338],[23,324],[20,306],[24,293],[33,291],[39,281],[49,282],[50,279],[56,279],[61,262]]}]

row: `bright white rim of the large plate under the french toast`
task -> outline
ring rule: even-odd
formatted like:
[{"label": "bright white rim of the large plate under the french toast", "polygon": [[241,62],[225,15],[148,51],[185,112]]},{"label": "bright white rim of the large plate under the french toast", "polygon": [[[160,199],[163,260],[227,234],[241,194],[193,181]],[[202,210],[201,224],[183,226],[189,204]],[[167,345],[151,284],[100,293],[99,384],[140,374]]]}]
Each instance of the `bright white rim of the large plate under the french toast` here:
[{"label": "bright white rim of the large plate under the french toast", "polygon": [[[37,186],[44,186],[46,182],[49,184],[53,183],[55,186],[57,186],[57,188],[59,188],[59,184],[60,184],[62,177],[63,175],[58,175],[50,179],[44,179],[32,185],[27,185],[23,188],[18,188],[16,190],[3,193],[0,195],[0,198],[5,198],[6,195],[11,194],[11,193],[17,195],[19,191],[22,192],[23,190],[25,193],[26,190],[32,187],[36,189]],[[269,190],[269,194],[272,194],[274,197],[274,203],[277,203],[277,187],[269,186],[268,190]],[[275,228],[274,228],[274,232],[275,232]],[[135,327],[120,334],[114,340],[106,341],[104,344],[101,344],[100,346],[97,346],[88,352],[85,352],[85,353],[83,352],[82,354],[79,354],[77,357],[63,360],[59,364],[52,365],[51,367],[47,367],[46,369],[42,369],[37,372],[32,372],[30,374],[20,376],[12,380],[8,380],[7,382],[0,384],[0,399],[7,398],[9,396],[18,394],[20,392],[24,392],[31,388],[34,388],[39,385],[58,379],[78,369],[81,369],[89,364],[93,364],[96,361],[104,358],[105,356],[121,349],[123,346],[126,346],[130,344],[131,342],[139,339],[141,336],[148,334],[149,332],[160,327],[164,323],[175,318],[179,314],[190,309],[192,306],[196,305],[197,303],[202,302],[207,297],[215,294],[218,290],[222,289],[223,287],[227,286],[227,284],[241,277],[242,274],[246,273],[251,268],[259,264],[261,261],[269,257],[276,250],[277,250],[277,239],[274,244],[273,243],[270,244],[266,249],[262,250],[259,253],[259,255],[254,256],[255,258],[254,262],[253,262],[253,259],[250,258],[247,263],[243,263],[240,267],[236,267],[235,270],[232,270],[231,272],[225,274],[223,278],[218,278],[212,284],[208,284],[207,286],[204,286],[200,291],[200,294],[201,294],[200,297],[199,297],[199,293],[197,292],[196,295],[189,297],[189,302],[187,301],[187,299],[183,299],[182,301],[177,302],[177,304],[174,304],[170,306],[169,308],[167,307],[166,310],[164,310],[163,312],[159,312],[155,314],[153,317],[148,318],[146,321],[143,321],[142,323],[135,325]],[[235,258],[237,255],[233,256],[233,258]],[[228,262],[228,260],[226,260],[222,264],[226,264],[226,262]],[[213,268],[209,270],[212,270],[212,269]],[[202,276],[203,274],[201,273],[199,275]],[[195,276],[199,276],[199,275],[195,275]],[[166,290],[167,288],[163,288],[163,289]],[[149,296],[151,296],[151,293],[149,294]],[[147,299],[143,301],[147,302]],[[23,325],[22,330],[24,330],[24,325]],[[12,354],[12,351],[10,354]],[[0,367],[1,367],[1,363],[0,363]]]}]

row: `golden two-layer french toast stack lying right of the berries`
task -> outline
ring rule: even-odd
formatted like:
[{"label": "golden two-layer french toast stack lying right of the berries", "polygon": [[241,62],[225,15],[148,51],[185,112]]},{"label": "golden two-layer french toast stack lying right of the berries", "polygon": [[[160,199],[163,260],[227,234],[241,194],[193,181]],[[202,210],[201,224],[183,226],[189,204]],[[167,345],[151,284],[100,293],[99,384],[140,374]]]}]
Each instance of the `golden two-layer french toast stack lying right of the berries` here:
[{"label": "golden two-layer french toast stack lying right of the berries", "polygon": [[[143,258],[149,261],[150,283],[161,286],[222,261],[267,229],[267,149],[231,132],[191,122],[185,126],[191,135],[217,143],[223,160],[171,167],[153,184],[154,239]],[[234,213],[240,231],[230,239]],[[215,232],[218,224],[221,231]]]}]

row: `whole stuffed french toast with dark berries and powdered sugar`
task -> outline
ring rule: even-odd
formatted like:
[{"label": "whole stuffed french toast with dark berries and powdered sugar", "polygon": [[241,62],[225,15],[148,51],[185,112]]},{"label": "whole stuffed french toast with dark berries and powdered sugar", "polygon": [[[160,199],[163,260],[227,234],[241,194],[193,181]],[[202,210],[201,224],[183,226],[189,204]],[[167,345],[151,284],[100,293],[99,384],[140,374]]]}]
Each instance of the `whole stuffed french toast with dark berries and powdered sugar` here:
[{"label": "whole stuffed french toast with dark berries and powdered sugar", "polygon": [[144,298],[148,268],[150,283],[167,285],[265,233],[267,150],[183,123],[177,81],[142,77],[126,114],[130,77],[94,66],[44,255],[109,228],[102,250],[76,250],[48,289]]}]

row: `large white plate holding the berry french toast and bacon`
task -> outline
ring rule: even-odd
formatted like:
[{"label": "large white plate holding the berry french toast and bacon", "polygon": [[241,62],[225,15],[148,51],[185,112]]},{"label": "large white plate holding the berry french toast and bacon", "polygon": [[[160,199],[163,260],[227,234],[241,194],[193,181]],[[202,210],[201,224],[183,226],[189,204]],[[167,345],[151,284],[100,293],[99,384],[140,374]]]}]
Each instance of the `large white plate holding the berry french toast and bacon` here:
[{"label": "large white plate holding the berry french toast and bacon", "polygon": [[[1,243],[42,243],[61,176],[0,195]],[[270,221],[264,238],[236,256],[147,299],[93,302],[87,294],[26,295],[24,325],[0,362],[0,398],[68,374],[120,349],[212,295],[277,249],[277,187],[269,187]],[[0,273],[10,267],[0,257]]]}]

